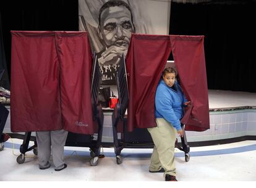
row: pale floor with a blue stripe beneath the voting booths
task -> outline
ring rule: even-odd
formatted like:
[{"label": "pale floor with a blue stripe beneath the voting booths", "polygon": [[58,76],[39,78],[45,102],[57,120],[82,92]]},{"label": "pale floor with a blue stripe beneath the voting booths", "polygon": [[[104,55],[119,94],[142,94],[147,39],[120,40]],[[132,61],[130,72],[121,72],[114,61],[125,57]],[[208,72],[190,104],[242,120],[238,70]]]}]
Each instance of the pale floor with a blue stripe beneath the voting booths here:
[{"label": "pale floor with a blue stripe beneath the voting booths", "polygon": [[[16,162],[19,139],[9,139],[0,152],[0,181],[163,181],[163,173],[149,173],[152,149],[124,149],[121,165],[113,148],[103,148],[105,158],[90,166],[87,148],[65,147],[67,168],[39,170],[38,159],[27,153],[25,163]],[[176,149],[179,181],[256,181],[256,141],[191,147],[190,161]]]}]

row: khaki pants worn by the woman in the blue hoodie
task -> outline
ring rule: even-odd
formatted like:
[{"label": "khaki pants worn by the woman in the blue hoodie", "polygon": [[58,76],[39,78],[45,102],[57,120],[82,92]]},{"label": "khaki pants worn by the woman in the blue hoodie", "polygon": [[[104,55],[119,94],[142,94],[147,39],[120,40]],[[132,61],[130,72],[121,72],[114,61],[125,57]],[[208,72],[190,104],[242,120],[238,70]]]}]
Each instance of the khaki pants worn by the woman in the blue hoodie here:
[{"label": "khaki pants worn by the woman in the blue hoodie", "polygon": [[176,176],[174,147],[177,131],[164,118],[156,118],[156,123],[155,128],[148,128],[155,144],[149,170],[158,171],[163,168],[165,171],[164,177],[166,174]]}]

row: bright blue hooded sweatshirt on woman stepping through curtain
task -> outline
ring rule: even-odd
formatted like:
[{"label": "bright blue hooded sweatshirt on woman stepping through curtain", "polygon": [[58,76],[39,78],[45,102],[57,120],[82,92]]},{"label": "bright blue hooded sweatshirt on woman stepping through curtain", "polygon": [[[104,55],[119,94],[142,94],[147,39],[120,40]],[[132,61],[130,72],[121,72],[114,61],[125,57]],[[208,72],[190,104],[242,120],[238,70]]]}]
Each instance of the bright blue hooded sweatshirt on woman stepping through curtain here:
[{"label": "bright blue hooded sweatshirt on woman stepping through curtain", "polygon": [[177,81],[173,87],[176,91],[166,85],[163,79],[159,81],[155,96],[155,118],[164,118],[179,131],[180,119],[184,115],[184,102],[187,102],[187,99]]}]

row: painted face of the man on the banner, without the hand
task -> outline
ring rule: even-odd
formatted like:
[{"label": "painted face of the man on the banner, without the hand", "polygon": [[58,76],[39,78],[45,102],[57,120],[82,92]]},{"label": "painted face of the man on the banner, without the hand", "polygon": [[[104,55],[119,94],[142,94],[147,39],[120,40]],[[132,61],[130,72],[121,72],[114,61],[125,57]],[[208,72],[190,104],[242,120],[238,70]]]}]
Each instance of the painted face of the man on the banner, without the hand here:
[{"label": "painted face of the man on the banner, without the hand", "polygon": [[107,47],[128,48],[134,32],[130,11],[124,6],[108,7],[101,14],[100,28],[100,38]]}]

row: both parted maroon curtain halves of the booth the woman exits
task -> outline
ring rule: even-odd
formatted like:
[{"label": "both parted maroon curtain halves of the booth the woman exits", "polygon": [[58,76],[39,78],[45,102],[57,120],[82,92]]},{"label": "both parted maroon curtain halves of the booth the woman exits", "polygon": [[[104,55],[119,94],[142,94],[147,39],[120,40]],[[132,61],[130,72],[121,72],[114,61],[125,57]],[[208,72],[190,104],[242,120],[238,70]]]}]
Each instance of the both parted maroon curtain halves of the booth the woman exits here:
[{"label": "both parted maroon curtain halves of the booth the woman exits", "polygon": [[[134,128],[156,126],[155,92],[171,49],[173,49],[174,62],[176,62],[181,83],[183,79],[186,83],[182,83],[181,86],[187,99],[194,102],[193,106],[187,110],[182,122],[186,124],[186,130],[203,131],[210,128],[203,36],[132,34],[126,56],[130,97],[129,131]],[[191,65],[188,65],[188,62]],[[190,87],[191,84],[194,84],[194,88]],[[195,89],[198,91],[195,92]],[[202,99],[197,100],[197,98]]]}]

